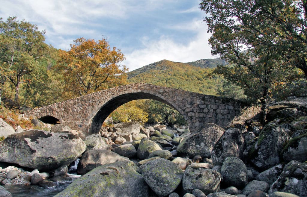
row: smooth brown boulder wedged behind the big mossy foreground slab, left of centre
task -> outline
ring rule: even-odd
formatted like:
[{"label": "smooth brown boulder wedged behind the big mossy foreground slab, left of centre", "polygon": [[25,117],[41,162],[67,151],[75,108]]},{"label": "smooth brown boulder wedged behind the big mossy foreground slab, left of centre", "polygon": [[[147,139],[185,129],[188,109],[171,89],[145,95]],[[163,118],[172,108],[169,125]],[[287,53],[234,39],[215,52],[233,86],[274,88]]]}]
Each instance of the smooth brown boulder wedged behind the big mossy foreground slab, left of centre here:
[{"label": "smooth brown boulder wedged behind the big mossy foreground slab, left of centre", "polygon": [[88,150],[82,155],[77,167],[77,172],[82,175],[99,165],[126,160],[129,160],[129,158],[122,157],[110,150]]}]

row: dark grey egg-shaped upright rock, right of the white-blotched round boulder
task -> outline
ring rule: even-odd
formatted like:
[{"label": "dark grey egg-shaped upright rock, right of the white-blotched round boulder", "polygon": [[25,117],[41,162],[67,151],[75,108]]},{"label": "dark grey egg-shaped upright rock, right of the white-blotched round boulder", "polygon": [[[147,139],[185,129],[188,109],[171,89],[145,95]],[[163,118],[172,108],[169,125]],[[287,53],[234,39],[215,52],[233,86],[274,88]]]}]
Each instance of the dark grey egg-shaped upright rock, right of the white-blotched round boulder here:
[{"label": "dark grey egg-shaped upright rock, right of the white-blotched round boulder", "polygon": [[247,168],[238,157],[227,157],[223,162],[221,174],[225,185],[240,189],[247,184]]}]

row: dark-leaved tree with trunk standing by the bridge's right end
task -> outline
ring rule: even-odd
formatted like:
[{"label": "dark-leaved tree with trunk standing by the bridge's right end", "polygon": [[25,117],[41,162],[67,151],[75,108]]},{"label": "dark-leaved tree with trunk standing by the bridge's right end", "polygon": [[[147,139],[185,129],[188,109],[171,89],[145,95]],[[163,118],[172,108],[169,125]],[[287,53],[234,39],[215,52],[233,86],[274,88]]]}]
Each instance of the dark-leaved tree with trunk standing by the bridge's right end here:
[{"label": "dark-leaved tree with trunk standing by the bridge's right end", "polygon": [[[298,43],[306,46],[304,35],[301,35],[299,42],[288,40],[291,37],[290,32],[292,36],[294,32],[299,36],[305,31],[305,25],[294,23],[305,19],[298,16],[298,1],[292,2],[203,0],[200,3],[200,8],[210,14],[204,21],[208,25],[208,32],[212,33],[209,39],[211,53],[220,55],[221,59],[229,63],[227,66],[218,66],[214,72],[223,74],[225,79],[241,86],[249,100],[260,101],[263,122],[267,103],[274,92],[280,85],[291,83],[300,77],[300,72],[295,68],[304,71],[306,66],[293,65],[293,61],[290,61],[296,58],[302,62],[307,57],[306,49],[299,47],[297,51],[294,47]],[[292,26],[286,28],[286,23]],[[298,28],[301,28],[301,32]],[[288,51],[288,56],[282,52],[284,50]],[[293,54],[298,53],[302,59],[300,56],[294,57]]]}]

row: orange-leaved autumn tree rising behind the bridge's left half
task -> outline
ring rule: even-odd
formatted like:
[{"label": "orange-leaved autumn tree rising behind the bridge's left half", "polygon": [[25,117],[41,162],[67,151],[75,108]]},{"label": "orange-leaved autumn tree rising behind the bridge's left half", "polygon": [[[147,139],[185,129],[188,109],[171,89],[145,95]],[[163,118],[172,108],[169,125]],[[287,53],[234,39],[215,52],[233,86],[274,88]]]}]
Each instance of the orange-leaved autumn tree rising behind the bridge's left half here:
[{"label": "orange-leaved autumn tree rising behind the bridge's left half", "polygon": [[81,96],[126,83],[126,66],[119,65],[124,55],[115,47],[111,49],[106,39],[79,38],[69,51],[59,50],[56,68],[64,74],[66,92]]}]

